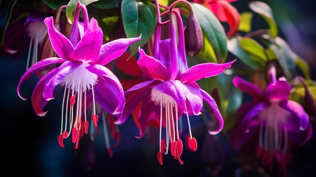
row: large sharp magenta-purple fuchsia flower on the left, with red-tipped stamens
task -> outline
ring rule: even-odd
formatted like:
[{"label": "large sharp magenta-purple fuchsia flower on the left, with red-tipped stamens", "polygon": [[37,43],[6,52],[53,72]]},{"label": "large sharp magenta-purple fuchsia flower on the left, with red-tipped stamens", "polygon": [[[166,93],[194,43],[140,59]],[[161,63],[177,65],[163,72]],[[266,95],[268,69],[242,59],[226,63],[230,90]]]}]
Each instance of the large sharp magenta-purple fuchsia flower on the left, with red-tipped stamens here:
[{"label": "large sharp magenta-purple fuchsia flower on the left, with red-tipped stamens", "polygon": [[[83,28],[79,25],[80,9],[83,13]],[[94,18],[89,22],[87,10],[80,2],[77,4],[69,39],[55,28],[52,17],[46,18],[44,23],[48,28],[51,45],[60,57],[45,58],[30,67],[21,77],[17,93],[26,100],[20,95],[21,84],[31,75],[51,65],[60,65],[38,81],[32,93],[32,105],[37,115],[44,116],[47,111],[43,111],[43,108],[49,100],[54,99],[54,89],[57,85],[64,86],[62,126],[58,142],[64,147],[63,139],[68,138],[72,132],[72,141],[76,144],[75,148],[78,148],[79,138],[88,132],[88,94],[92,95],[91,119],[95,127],[98,120],[95,102],[114,115],[123,111],[125,98],[122,85],[104,65],[120,56],[131,43],[140,40],[140,37],[117,39],[102,45],[101,28]]]}]

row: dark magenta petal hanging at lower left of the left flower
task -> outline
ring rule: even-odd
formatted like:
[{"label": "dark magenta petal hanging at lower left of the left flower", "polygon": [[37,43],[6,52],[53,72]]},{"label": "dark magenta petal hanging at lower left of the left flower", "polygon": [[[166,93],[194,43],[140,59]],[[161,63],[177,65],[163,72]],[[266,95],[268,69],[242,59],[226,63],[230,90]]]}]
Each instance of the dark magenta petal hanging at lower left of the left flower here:
[{"label": "dark magenta petal hanging at lower left of the left flower", "polygon": [[33,105],[33,109],[35,111],[35,113],[38,116],[45,116],[47,111],[43,111],[43,108],[47,105],[48,101],[46,101],[43,97],[43,88],[44,88],[44,83],[46,81],[46,79],[55,71],[57,70],[57,68],[52,69],[51,71],[49,71],[46,75],[44,75],[36,84],[33,93],[32,93],[32,105]]}]

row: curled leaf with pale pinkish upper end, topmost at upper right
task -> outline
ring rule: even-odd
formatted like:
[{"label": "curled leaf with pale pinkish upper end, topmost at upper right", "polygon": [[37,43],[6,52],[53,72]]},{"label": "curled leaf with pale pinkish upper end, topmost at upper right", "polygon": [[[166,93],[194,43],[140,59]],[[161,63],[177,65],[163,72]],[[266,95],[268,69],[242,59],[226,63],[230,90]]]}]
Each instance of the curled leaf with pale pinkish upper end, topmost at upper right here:
[{"label": "curled leaf with pale pinkish upper end, topmost at upper right", "polygon": [[276,38],[278,36],[278,27],[273,18],[270,6],[260,1],[252,1],[249,3],[249,8],[267,21],[271,37]]}]

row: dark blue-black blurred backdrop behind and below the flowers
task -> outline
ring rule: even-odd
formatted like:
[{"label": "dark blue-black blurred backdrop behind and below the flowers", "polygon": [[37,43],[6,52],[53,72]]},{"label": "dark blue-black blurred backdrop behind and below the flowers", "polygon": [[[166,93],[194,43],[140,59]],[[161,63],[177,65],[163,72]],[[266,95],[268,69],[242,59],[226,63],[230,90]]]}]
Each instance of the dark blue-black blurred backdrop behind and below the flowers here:
[{"label": "dark blue-black blurred backdrop behind and below the flowers", "polygon": [[[240,0],[232,5],[239,12],[250,11],[247,3]],[[271,6],[274,18],[283,37],[292,50],[304,58],[311,67],[312,79],[316,80],[316,11],[312,0],[271,0],[262,1]],[[259,17],[254,17],[259,18]],[[256,24],[260,27],[262,24]],[[16,87],[25,72],[27,53],[21,60],[0,56],[0,117],[2,139],[2,176],[264,176],[259,172],[244,171],[234,160],[236,152],[232,150],[221,134],[206,135],[205,128],[198,127],[201,117],[191,118],[191,125],[198,136],[198,150],[189,152],[184,147],[182,161],[168,154],[164,156],[164,165],[156,159],[157,147],[139,134],[132,119],[119,126],[122,140],[113,148],[114,157],[110,158],[102,126],[95,140],[88,136],[80,140],[79,148],[74,149],[70,139],[64,141],[65,148],[57,142],[60,131],[62,90],[57,89],[56,99],[46,106],[48,113],[44,117],[35,115],[30,96],[38,79],[34,75],[21,87],[21,94],[29,98],[21,100]],[[185,124],[184,124],[185,125]],[[224,125],[225,126],[225,125]],[[199,135],[200,131],[203,135]],[[208,136],[205,138],[205,136]],[[208,139],[206,141],[206,139]],[[313,141],[295,149],[297,154],[288,167],[289,176],[314,176],[316,167],[316,146]],[[212,142],[211,144],[206,144]],[[112,142],[115,144],[115,142]],[[209,148],[205,154],[200,147]],[[209,157],[205,161],[203,157]],[[215,172],[216,171],[216,172]]]}]

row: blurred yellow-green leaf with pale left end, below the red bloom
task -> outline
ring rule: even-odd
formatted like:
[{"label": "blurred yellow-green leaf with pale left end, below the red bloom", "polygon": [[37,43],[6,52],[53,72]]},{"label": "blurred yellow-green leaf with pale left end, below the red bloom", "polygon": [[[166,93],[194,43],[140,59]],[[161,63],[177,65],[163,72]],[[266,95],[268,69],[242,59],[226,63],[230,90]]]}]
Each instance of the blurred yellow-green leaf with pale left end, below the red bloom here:
[{"label": "blurred yellow-green leaf with pale left end, below the red bloom", "polygon": [[[254,44],[252,39],[245,38],[242,39],[240,37],[238,38],[231,38],[227,40],[227,47],[228,50],[233,53],[235,56],[237,56],[244,64],[249,66],[250,68],[254,70],[264,70],[265,69],[265,60],[266,58],[262,59],[258,57],[256,54],[253,54],[253,51],[251,51],[251,48],[254,48],[255,51],[259,51],[259,56],[262,56],[262,50],[263,48],[260,48],[258,44]],[[242,41],[243,46],[241,46],[240,41]],[[254,44],[254,45],[251,45]],[[246,48],[246,49],[245,49]],[[261,50],[261,51],[260,51]]]}]

